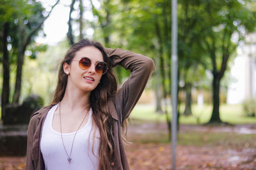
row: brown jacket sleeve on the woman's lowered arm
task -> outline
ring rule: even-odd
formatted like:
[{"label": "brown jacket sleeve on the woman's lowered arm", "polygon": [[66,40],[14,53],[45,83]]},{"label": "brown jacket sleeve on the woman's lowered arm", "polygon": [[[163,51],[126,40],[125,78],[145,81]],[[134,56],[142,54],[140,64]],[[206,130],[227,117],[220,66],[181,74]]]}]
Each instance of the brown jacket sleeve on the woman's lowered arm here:
[{"label": "brown jacket sleeve on the woman's lowered arm", "polygon": [[34,170],[34,163],[32,159],[32,148],[33,148],[33,134],[36,129],[38,118],[36,116],[31,117],[28,126],[28,141],[27,141],[27,155],[26,155],[26,170]]}]

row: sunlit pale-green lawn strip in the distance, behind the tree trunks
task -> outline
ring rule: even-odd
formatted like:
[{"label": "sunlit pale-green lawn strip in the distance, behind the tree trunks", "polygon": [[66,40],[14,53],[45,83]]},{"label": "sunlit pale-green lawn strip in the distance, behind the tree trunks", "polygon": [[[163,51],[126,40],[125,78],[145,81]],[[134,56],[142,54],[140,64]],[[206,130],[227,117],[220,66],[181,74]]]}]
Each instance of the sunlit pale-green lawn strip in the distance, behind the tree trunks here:
[{"label": "sunlit pale-green lawn strip in the distance, behind the tree trunks", "polygon": [[[171,114],[171,109],[168,108]],[[180,111],[184,110],[184,106],[180,106]],[[192,106],[192,116],[180,115],[180,124],[198,124],[196,117],[200,120],[200,124],[205,124],[209,122],[212,113],[211,105],[204,106]],[[154,105],[137,104],[131,113],[131,117],[135,120],[143,120],[150,122],[165,122],[166,115],[159,114],[155,112]],[[228,122],[229,124],[255,124],[256,117],[245,117],[243,113],[243,107],[241,104],[221,104],[220,106],[220,118],[223,122]]]}]

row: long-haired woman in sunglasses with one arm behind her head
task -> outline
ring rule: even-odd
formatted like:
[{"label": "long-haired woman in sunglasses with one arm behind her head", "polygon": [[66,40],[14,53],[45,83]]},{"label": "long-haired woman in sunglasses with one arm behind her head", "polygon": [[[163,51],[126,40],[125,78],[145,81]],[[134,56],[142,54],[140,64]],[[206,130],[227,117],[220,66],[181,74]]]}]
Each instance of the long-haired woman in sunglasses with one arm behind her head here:
[{"label": "long-haired woman in sunglasses with one arm behind her head", "polygon": [[[112,67],[131,71],[121,89]],[[152,59],[83,39],[61,62],[50,106],[28,127],[26,169],[129,169],[122,127],[154,69]]]}]

